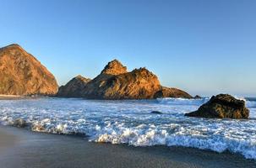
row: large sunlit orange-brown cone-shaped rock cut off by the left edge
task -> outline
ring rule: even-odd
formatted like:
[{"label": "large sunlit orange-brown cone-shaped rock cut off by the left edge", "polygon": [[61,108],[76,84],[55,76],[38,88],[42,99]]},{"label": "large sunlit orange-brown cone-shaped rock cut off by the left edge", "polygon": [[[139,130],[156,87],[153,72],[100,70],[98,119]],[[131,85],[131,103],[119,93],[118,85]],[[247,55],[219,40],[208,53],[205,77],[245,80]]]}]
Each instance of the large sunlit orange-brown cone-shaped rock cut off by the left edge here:
[{"label": "large sunlit orange-brown cone-shaped rock cut off by the left edge", "polygon": [[55,95],[57,89],[52,73],[19,45],[0,49],[0,94]]}]

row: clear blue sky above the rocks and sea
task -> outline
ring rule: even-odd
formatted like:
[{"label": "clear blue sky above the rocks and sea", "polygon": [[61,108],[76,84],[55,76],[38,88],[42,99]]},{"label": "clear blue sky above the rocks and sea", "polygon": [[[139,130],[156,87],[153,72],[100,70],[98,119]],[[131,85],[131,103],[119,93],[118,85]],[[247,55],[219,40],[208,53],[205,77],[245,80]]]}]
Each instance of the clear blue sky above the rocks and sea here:
[{"label": "clear blue sky above the rocks and sea", "polygon": [[17,43],[59,85],[109,60],[167,87],[256,97],[255,0],[0,0],[0,46]]}]

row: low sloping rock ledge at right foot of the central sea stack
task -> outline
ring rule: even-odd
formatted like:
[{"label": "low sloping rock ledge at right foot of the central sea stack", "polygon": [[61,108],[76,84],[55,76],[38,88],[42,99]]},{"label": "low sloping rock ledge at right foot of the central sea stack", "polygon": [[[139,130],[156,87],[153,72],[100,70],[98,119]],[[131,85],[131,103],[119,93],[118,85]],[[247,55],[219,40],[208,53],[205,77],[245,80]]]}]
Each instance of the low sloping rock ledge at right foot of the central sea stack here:
[{"label": "low sloping rock ledge at right foot of the central sea stack", "polygon": [[184,92],[177,88],[161,87],[161,90],[155,92],[154,98],[161,97],[182,97],[182,98],[192,98],[188,92]]}]

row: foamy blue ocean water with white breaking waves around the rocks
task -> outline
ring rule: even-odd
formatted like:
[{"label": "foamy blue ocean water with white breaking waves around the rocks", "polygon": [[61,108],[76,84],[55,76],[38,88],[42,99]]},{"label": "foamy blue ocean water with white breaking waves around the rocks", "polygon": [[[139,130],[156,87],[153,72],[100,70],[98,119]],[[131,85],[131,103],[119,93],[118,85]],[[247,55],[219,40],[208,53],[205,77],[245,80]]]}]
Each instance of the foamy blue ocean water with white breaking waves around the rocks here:
[{"label": "foamy blue ocean water with white breaking waves around the rocks", "polygon": [[[134,146],[185,146],[256,159],[256,99],[247,98],[248,120],[189,118],[209,98],[84,100],[35,98],[0,100],[0,123],[23,118],[28,129],[52,134],[83,134],[90,141]],[[150,113],[160,111],[163,114]]]}]

